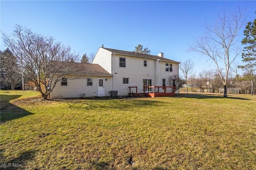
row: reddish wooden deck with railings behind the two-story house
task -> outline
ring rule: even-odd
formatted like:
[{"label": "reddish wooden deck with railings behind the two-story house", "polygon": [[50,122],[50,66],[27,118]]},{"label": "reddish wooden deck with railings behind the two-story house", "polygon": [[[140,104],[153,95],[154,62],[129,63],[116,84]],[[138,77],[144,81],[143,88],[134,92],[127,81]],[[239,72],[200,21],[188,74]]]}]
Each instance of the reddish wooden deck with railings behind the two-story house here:
[{"label": "reddish wooden deck with railings behind the two-story house", "polygon": [[[131,92],[131,88],[136,89],[136,93],[133,91]],[[132,86],[129,87],[130,93],[128,93],[128,96],[131,97],[168,97],[168,96],[175,96],[175,86],[148,86],[148,87],[143,87],[143,91],[145,91],[146,88],[152,88],[153,92],[143,92],[143,93],[138,93],[138,87],[137,86]],[[162,88],[164,92],[159,92],[159,88]],[[166,88],[169,90],[169,92],[166,92]]]}]

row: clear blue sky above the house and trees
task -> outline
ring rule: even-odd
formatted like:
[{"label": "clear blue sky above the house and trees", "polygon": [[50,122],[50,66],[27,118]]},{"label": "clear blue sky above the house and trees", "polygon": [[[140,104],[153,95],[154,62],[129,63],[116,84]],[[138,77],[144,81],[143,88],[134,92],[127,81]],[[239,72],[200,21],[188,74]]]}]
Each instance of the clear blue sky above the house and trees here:
[{"label": "clear blue sky above the house and trees", "polygon": [[[205,25],[218,14],[245,10],[246,23],[256,18],[256,1],[0,1],[1,32],[12,34],[19,24],[49,35],[82,56],[106,48],[132,51],[142,44],[150,54],[195,63],[194,71],[211,70],[206,57],[189,51]],[[240,30],[240,39],[243,38]],[[5,50],[0,41],[0,49]],[[237,62],[241,63],[241,56]]]}]

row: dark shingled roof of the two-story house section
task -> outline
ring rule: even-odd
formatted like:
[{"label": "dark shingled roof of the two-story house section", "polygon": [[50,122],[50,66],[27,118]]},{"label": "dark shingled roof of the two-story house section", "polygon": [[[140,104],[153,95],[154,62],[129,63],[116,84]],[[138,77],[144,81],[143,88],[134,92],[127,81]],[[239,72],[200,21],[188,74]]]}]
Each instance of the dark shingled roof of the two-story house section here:
[{"label": "dark shingled roof of the two-story house section", "polygon": [[[102,48],[102,47],[100,47]],[[108,50],[112,53],[115,54],[122,54],[122,55],[126,55],[126,56],[135,56],[135,57],[142,57],[142,58],[152,58],[152,59],[158,59],[158,60],[162,60],[162,61],[168,61],[168,62],[176,62],[176,63],[180,63],[174,60],[170,60],[168,58],[164,58],[164,57],[160,57],[160,56],[154,56],[154,55],[150,55],[150,54],[142,54],[142,53],[138,53],[138,52],[130,52],[130,51],[124,51],[124,50],[116,50],[116,49],[111,49],[111,48],[103,48],[105,50]]]}]

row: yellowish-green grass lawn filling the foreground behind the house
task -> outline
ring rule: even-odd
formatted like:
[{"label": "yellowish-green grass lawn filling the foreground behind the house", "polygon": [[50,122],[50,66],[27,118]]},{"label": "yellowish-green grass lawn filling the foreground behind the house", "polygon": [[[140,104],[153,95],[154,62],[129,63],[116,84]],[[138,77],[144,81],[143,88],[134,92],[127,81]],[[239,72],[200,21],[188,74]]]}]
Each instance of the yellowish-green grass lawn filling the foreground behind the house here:
[{"label": "yellowish-green grass lawn filling the foreground behind the house", "polygon": [[33,91],[0,94],[3,169],[256,170],[256,96],[52,101]]}]

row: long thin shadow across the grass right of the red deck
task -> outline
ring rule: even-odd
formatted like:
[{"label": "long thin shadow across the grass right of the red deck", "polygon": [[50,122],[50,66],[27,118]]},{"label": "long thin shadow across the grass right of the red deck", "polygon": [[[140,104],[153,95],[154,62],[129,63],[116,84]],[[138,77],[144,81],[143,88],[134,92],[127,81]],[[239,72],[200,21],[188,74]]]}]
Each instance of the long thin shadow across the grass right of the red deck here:
[{"label": "long thin shadow across the grass right of the red deck", "polygon": [[[197,99],[224,98],[223,96],[220,96],[218,94],[192,94],[192,93],[180,93],[180,94],[176,95],[176,97],[181,97],[181,98],[197,98]],[[227,98],[238,99],[238,100],[250,100],[250,99],[247,99],[247,98],[230,97],[230,96],[228,96]]]}]

